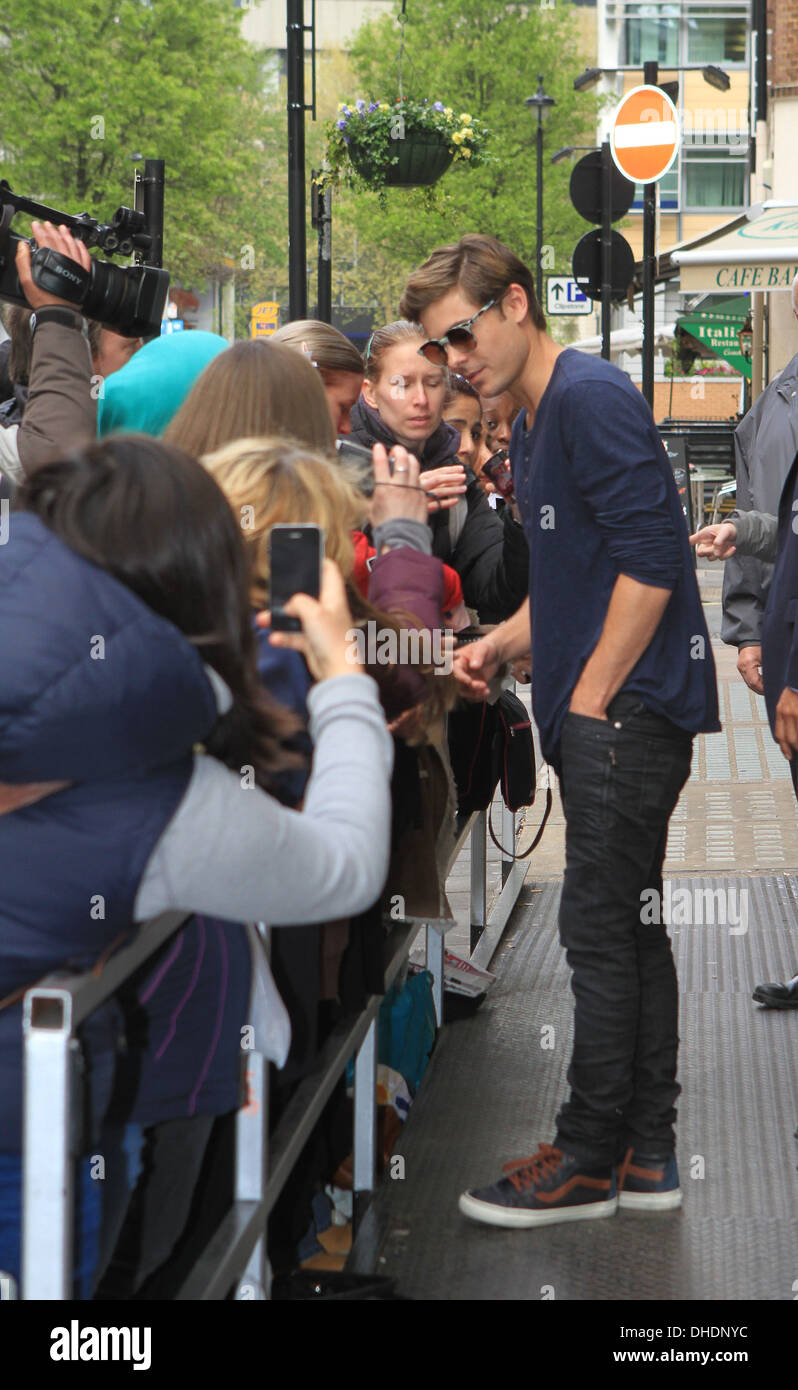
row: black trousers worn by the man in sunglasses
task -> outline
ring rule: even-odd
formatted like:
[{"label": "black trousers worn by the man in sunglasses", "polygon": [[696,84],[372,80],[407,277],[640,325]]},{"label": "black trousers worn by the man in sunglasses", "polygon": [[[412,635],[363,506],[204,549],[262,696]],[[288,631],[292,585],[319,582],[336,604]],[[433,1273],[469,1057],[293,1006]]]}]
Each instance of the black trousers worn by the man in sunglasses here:
[{"label": "black trousers worn by the man in sunglasses", "polygon": [[559,924],[576,1012],[555,1143],[596,1166],[630,1144],[652,1156],[674,1147],[678,997],[662,863],[692,756],[692,735],[634,696],[617,695],[608,714],[567,714],[560,771]]}]

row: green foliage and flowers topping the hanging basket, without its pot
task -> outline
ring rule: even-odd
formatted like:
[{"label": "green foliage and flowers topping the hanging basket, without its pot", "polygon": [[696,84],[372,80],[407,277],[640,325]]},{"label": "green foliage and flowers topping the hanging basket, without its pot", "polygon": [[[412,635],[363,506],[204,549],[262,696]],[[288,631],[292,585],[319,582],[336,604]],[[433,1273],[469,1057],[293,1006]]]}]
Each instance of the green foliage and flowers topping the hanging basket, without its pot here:
[{"label": "green foliage and flowers topping the hanging basket, without its pot", "polygon": [[469,111],[455,115],[450,106],[427,97],[393,103],[360,97],[352,106],[341,101],[327,126],[324,183],[384,188],[391,165],[399,164],[400,142],[414,135],[435,136],[453,160],[470,161],[471,168],[487,163],[487,126]]}]

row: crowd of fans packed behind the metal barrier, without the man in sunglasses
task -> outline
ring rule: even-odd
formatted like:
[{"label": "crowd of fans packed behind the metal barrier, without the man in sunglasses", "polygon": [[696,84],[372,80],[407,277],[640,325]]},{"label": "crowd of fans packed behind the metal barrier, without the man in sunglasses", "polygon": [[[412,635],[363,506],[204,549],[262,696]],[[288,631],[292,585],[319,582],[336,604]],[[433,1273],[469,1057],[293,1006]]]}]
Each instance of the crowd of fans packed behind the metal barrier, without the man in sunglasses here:
[{"label": "crowd of fans packed behind the metal barrier, without the man in sunglasses", "polygon": [[[35,235],[85,265],[65,228]],[[528,555],[517,514],[477,484],[478,423],[459,457],[449,374],[420,357],[417,325],[377,332],[366,363],[316,321],[232,348],[142,343],[39,291],[25,253],[0,430],[0,639],[15,653],[0,680],[0,1269],[19,1277],[25,988],[182,909],[81,1030],[75,1287],[129,1297],[186,1238],[213,1134],[241,1104],[242,1029],[257,1019],[254,1047],[281,1069],[278,1116],[336,1013],[382,988],[388,894],[448,917],[453,677],[361,663],[352,632],[496,623],[526,595]],[[368,485],[336,452],[349,438],[368,448]],[[268,542],[286,523],[324,534],[318,598],[285,606],[299,634],[268,627]],[[271,963],[256,922],[277,929]],[[293,1194],[288,1244],[310,1195]]]}]

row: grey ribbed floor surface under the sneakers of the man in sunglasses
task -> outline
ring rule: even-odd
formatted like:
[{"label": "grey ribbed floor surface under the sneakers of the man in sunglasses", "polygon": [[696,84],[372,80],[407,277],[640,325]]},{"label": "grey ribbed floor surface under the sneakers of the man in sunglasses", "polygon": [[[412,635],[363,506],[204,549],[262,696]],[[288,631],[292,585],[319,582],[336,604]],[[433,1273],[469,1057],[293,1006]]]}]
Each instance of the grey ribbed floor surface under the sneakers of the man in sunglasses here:
[{"label": "grey ribbed floor surface under the sneakers of the man in sunglasses", "polygon": [[[403,1176],[384,1179],[350,1268],[391,1275],[418,1300],[795,1297],[798,1012],[762,1011],[751,990],[798,967],[798,878],[670,885],[673,917],[690,901],[694,919],[670,927],[683,991],[681,1211],[519,1232],[457,1211],[464,1187],[492,1182],[503,1162],[552,1138],[566,1091],[571,994],[559,885],[527,887],[488,999],[439,1038],[395,1151]],[[542,1047],[551,1034],[541,1030],[552,1027],[555,1047]]]}]

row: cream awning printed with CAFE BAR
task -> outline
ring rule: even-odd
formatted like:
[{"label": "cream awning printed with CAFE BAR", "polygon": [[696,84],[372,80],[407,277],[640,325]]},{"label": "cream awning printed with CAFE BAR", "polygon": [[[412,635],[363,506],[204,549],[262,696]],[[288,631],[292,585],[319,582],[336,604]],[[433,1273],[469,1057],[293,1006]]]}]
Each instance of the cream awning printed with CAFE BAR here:
[{"label": "cream awning printed with CAFE BAR", "polygon": [[688,293],[790,289],[798,274],[798,203],[756,203],[731,231],[674,247],[670,259]]}]

